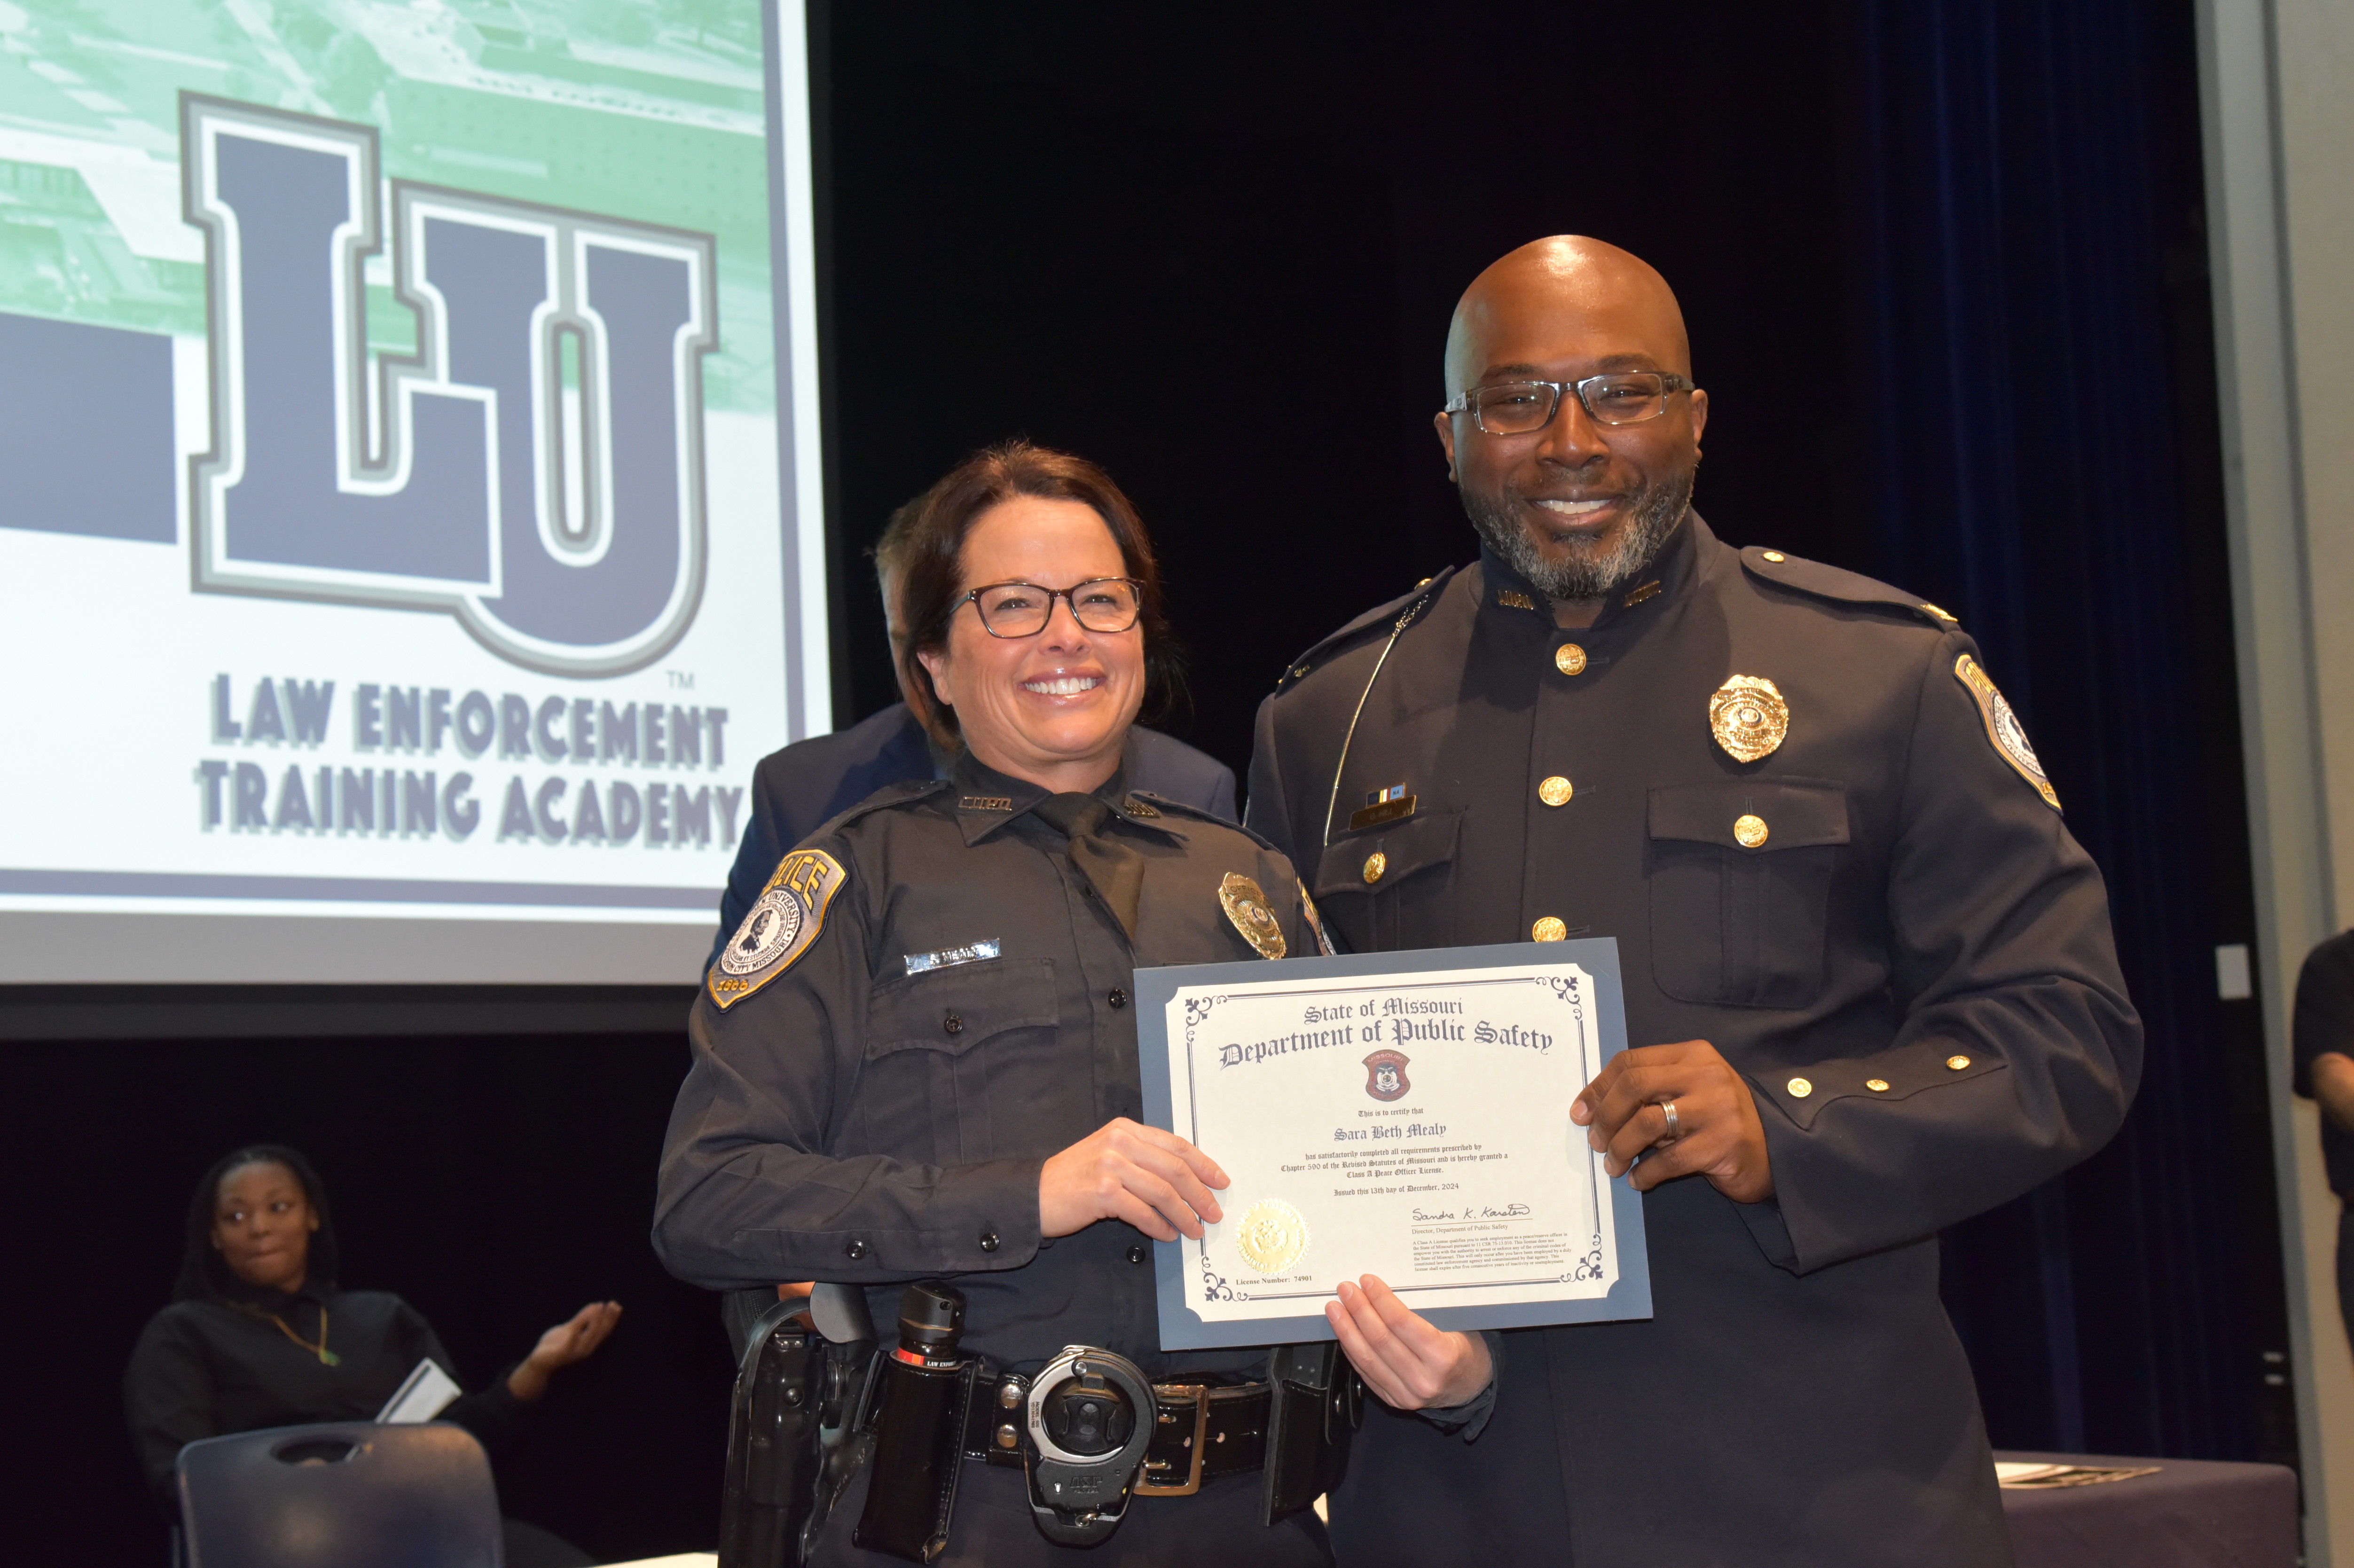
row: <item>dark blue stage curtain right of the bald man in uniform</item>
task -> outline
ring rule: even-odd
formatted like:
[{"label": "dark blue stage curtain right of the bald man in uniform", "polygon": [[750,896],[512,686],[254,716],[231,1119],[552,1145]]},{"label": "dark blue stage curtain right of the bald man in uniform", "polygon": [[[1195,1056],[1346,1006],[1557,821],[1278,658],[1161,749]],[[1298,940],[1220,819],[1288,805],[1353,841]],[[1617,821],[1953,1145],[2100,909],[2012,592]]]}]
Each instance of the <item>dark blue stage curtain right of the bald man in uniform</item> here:
[{"label": "dark blue stage curtain right of the bald man in uniform", "polygon": [[2253,1003],[2215,998],[2246,935],[2189,16],[1864,0],[1860,339],[1874,572],[1982,643],[2149,1031],[2121,1137],[1947,1236],[1947,1307],[1999,1448],[2241,1460],[2286,1389]]}]

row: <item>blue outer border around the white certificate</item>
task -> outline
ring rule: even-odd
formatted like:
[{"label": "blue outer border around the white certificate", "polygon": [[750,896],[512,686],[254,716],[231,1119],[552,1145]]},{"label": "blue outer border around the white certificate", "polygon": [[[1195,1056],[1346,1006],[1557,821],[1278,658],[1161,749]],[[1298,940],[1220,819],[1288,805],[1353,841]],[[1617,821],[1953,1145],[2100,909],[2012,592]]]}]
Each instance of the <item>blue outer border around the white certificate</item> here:
[{"label": "blue outer border around the white certificate", "polygon": [[[1276,958],[1259,963],[1191,963],[1137,970],[1137,1057],[1144,1076],[1144,1121],[1175,1125],[1177,1097],[1170,1092],[1168,1005],[1179,986],[1266,984],[1271,979],[1361,979],[1429,970],[1495,970],[1575,963],[1594,977],[1594,1029],[1601,1036],[1601,1059],[1627,1048],[1627,1003],[1620,986],[1617,937],[1580,942],[1499,942],[1495,946],[1434,946],[1403,954],[1337,954],[1332,958]],[[1561,1107],[1568,1116],[1570,1107]],[[1610,1182],[1610,1229],[1617,1241],[1620,1276],[1603,1297],[1572,1302],[1518,1302],[1511,1307],[1436,1307],[1424,1311],[1441,1328],[1535,1328],[1540,1323],[1605,1323],[1650,1316],[1650,1253],[1643,1241],[1643,1194],[1627,1177]],[[1224,1349],[1233,1344],[1302,1344],[1330,1340],[1332,1326],[1323,1309],[1250,1318],[1248,1323],[1208,1323],[1191,1307],[1184,1253],[1177,1241],[1153,1243],[1153,1283],[1161,1304],[1161,1349]]]}]

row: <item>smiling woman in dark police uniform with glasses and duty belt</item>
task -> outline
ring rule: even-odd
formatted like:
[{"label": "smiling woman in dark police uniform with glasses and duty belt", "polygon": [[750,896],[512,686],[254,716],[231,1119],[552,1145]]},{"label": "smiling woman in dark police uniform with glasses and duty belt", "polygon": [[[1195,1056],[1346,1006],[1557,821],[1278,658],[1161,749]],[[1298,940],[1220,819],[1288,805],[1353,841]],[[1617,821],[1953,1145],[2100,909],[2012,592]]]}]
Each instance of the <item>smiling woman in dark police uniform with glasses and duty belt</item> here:
[{"label": "smiling woman in dark police uniform with glasses and duty belt", "polygon": [[[923,499],[906,574],[906,685],[963,756],[789,852],[727,939],[694,1005],[654,1245],[709,1288],[869,1285],[878,1323],[904,1283],[946,1281],[993,1377],[1090,1344],[1153,1382],[1250,1384],[1264,1349],[1158,1351],[1146,1238],[1219,1222],[1226,1177],[1135,1121],[1130,986],[1137,965],[1314,951],[1297,876],[1121,779],[1170,645],[1144,530],[1099,469],[982,452]],[[1478,1340],[1403,1309],[1391,1326],[1377,1391],[1450,1406],[1488,1382]],[[1311,1495],[1262,1523],[1264,1408],[1212,1406],[1201,1488],[1139,1495],[1090,1561],[1330,1561]],[[963,1464],[944,1561],[1064,1552],[1012,1457]],[[869,1479],[812,1561],[887,1561],[852,1544]]]}]

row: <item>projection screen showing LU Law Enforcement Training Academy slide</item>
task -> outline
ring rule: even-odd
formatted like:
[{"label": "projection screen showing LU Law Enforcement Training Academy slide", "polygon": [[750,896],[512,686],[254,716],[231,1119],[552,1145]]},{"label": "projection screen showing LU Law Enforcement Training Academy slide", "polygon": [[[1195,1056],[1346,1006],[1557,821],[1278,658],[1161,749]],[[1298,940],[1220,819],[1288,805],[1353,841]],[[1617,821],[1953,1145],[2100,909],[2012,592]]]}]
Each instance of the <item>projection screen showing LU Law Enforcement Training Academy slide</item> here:
[{"label": "projection screen showing LU Law Enforcement Training Academy slide", "polygon": [[831,727],[798,0],[0,0],[0,982],[683,982]]}]

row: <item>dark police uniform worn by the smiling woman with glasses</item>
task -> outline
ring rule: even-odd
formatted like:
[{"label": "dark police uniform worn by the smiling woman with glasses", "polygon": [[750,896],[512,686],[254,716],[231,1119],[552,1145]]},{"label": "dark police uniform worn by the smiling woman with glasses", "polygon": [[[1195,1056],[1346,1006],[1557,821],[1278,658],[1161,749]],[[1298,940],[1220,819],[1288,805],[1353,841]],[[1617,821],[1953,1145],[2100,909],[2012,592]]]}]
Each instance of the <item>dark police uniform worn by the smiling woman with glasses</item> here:
[{"label": "dark police uniform worn by the smiling woman with glasses", "polygon": [[[1255,958],[1219,902],[1229,873],[1266,892],[1292,954],[1314,951],[1297,876],[1264,841],[1130,796],[1121,779],[1099,798],[1113,808],[1104,836],[1144,859],[1132,939],[1069,841],[1033,815],[1048,793],[970,756],[784,857],[777,876],[810,890],[798,946],[756,986],[730,989],[713,968],[690,1017],[694,1055],[654,1210],[654,1250],[673,1274],[713,1290],[862,1283],[885,1335],[902,1285],[942,1278],[967,1302],[963,1349],[1000,1368],[1029,1373],[1066,1344],[1095,1344],[1156,1380],[1262,1375],[1266,1351],[1158,1349],[1151,1248],[1130,1224],[1038,1234],[1048,1156],[1113,1116],[1142,1116],[1135,968]],[[812,852],[838,869],[831,888],[810,883]],[[758,918],[760,904],[734,939]],[[979,1495],[958,1500],[956,1561],[1064,1552],[1031,1528],[1019,1488],[1019,1471],[967,1464]],[[829,1540],[847,1542],[859,1497]],[[1090,1561],[1125,1561],[1170,1519],[1233,1526],[1262,1547],[1243,1561],[1325,1559],[1314,1516],[1269,1530],[1257,1507],[1257,1476],[1137,1500]]]}]

